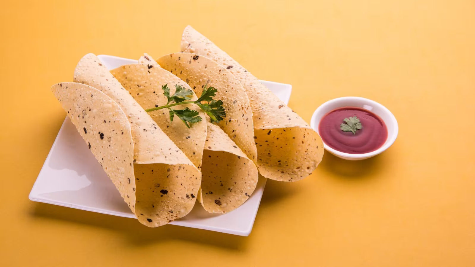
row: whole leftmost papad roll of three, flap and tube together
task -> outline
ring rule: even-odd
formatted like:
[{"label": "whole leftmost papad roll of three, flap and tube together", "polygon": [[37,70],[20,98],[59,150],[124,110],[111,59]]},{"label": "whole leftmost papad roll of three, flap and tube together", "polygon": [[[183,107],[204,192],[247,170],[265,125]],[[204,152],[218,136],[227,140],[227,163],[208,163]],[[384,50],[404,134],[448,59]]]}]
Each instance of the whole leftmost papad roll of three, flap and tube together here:
[{"label": "whole leftmost papad roll of three, flap and tube together", "polygon": [[[57,93],[60,101],[68,99],[67,103],[62,101],[63,107],[69,111],[72,120],[74,117],[76,128],[90,144],[96,159],[137,219],[146,226],[157,227],[188,214],[201,182],[201,173],[190,159],[161,131],[94,54],[87,54],[79,61],[74,81],[93,86],[108,96],[89,86],[76,85],[74,95],[70,91],[58,90],[57,86],[53,88],[60,92]],[[95,95],[100,95],[101,99],[85,99],[93,99]],[[74,114],[71,114],[70,108]],[[123,113],[118,112],[119,109]],[[125,120],[129,126],[124,125]],[[131,138],[115,142],[118,133],[131,135]],[[127,142],[133,142],[133,146]],[[109,145],[110,149],[107,149]],[[126,151],[133,148],[133,159],[130,152],[120,154],[122,147]]]}]

